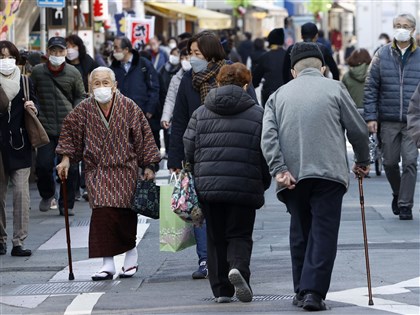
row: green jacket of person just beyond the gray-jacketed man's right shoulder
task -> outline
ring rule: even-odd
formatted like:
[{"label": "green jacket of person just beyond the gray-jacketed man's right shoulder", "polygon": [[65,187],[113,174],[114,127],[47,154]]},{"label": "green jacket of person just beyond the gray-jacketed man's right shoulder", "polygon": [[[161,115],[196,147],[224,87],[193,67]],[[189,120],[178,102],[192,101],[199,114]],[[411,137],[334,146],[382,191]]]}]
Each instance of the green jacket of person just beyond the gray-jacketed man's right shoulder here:
[{"label": "green jacket of person just beyond the gray-jacketed man's right shoulder", "polygon": [[341,80],[358,108],[363,108],[363,89],[368,68],[369,65],[365,63],[356,67],[350,67],[350,70],[344,74]]}]

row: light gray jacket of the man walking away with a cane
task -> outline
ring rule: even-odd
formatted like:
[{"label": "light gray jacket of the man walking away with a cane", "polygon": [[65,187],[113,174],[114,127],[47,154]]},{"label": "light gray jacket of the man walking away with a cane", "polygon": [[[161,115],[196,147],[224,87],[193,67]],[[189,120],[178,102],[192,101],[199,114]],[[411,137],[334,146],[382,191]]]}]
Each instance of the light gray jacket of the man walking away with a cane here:
[{"label": "light gray jacket of the man walking away with a cane", "polygon": [[[306,88],[303,88],[306,87]],[[314,68],[271,95],[265,105],[261,148],[273,177],[321,178],[349,184],[346,135],[355,161],[369,165],[366,123],[346,87]],[[285,187],[277,187],[277,196]]]}]

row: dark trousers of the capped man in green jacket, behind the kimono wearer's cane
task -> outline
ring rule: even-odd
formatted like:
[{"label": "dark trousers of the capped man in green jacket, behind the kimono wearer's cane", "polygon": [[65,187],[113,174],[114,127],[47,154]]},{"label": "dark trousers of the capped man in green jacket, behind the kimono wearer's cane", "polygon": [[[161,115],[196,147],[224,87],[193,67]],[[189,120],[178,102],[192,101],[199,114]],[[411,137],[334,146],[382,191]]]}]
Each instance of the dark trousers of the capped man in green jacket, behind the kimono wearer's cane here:
[{"label": "dark trousers of the capped man in green jacket, behind the kimono wearer's cane", "polygon": [[[43,199],[54,197],[55,194],[55,178],[54,168],[60,162],[60,158],[55,154],[55,148],[58,145],[58,137],[49,136],[50,143],[38,149],[36,156],[36,176],[39,195]],[[67,177],[67,205],[69,209],[74,207],[75,198],[75,180],[77,176],[78,165],[71,164]],[[60,209],[64,208],[62,185],[60,185],[60,197],[58,199]]]}]

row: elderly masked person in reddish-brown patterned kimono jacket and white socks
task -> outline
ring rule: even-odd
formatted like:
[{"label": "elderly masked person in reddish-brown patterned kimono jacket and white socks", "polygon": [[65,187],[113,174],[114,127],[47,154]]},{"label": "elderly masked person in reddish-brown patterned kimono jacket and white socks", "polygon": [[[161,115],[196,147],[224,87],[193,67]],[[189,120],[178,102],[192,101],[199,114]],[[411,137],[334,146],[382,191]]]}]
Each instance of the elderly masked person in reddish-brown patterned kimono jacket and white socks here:
[{"label": "elderly masked person in reddish-brown patterned kimono jacket and white socks", "polygon": [[92,96],[82,101],[63,122],[56,152],[61,178],[70,162],[86,165],[86,187],[92,216],[89,258],[103,258],[93,281],[110,280],[115,274],[114,256],[125,253],[120,278],[137,271],[137,214],[130,210],[138,168],[143,177],[155,177],[160,153],[140,107],[117,90],[114,72],[105,67],[90,75]]}]

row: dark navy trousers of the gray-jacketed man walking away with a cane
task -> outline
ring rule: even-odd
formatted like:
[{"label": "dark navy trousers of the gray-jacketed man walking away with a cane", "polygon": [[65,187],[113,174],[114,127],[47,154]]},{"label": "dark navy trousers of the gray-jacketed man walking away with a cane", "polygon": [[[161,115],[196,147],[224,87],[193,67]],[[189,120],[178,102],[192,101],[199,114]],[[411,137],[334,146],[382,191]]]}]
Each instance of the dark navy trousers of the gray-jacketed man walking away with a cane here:
[{"label": "dark navy trousers of the gray-jacketed man walking away with a cane", "polygon": [[290,220],[290,254],[296,293],[314,291],[324,299],[337,254],[341,206],[346,188],[324,179],[304,179],[284,190]]}]

